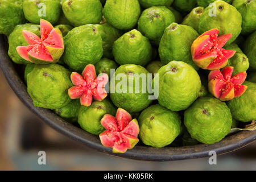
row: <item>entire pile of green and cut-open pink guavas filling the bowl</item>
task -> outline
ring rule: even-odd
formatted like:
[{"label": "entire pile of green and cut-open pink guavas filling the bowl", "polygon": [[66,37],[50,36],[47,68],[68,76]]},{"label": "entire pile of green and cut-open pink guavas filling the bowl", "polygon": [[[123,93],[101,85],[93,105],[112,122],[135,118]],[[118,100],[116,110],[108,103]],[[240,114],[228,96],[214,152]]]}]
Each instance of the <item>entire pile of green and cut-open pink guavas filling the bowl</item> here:
[{"label": "entire pile of green and cut-open pink guavas filling the bowl", "polygon": [[256,0],[0,0],[0,34],[34,106],[113,152],[255,125]]}]

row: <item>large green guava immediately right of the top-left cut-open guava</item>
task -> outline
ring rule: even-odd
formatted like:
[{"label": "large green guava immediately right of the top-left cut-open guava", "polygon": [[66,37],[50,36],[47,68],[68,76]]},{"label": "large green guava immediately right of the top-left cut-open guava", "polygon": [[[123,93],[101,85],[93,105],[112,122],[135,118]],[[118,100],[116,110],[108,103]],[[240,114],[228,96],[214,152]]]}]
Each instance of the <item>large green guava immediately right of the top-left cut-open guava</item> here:
[{"label": "large green guava immediately right of the top-left cut-open guava", "polygon": [[70,68],[82,71],[87,64],[95,64],[103,55],[100,24],[86,24],[73,28],[64,38],[63,60]]}]

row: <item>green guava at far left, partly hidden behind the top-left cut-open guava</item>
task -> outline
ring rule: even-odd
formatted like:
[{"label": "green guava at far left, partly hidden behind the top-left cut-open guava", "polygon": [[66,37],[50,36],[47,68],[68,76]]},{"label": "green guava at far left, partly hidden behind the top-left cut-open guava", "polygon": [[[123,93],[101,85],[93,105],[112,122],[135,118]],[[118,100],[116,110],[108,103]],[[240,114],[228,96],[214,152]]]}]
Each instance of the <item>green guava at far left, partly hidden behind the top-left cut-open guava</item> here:
[{"label": "green guava at far left, partly hidden behind the top-left cut-open guava", "polygon": [[34,34],[40,36],[40,26],[38,24],[19,24],[17,25],[13,32],[11,32],[8,42],[9,42],[9,51],[8,55],[11,60],[14,61],[16,64],[28,64],[30,63],[27,60],[24,60],[22,57],[19,56],[18,52],[16,51],[16,47],[18,46],[28,46],[26,39],[24,38],[22,31],[27,30],[31,31]]}]

